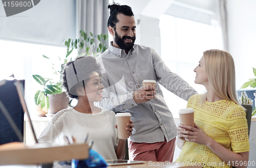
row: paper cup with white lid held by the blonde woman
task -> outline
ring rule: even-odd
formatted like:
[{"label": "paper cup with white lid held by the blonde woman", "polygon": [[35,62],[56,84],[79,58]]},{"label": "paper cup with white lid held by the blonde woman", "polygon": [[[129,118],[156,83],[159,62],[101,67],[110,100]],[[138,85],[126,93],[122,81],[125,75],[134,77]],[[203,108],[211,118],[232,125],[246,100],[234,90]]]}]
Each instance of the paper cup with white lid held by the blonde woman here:
[{"label": "paper cup with white lid held by the blonde woman", "polygon": [[[180,124],[194,127],[194,110],[193,108],[181,109],[179,112],[180,115]],[[190,129],[186,129],[187,131],[191,131]],[[185,140],[185,138],[181,137],[181,139]]]}]

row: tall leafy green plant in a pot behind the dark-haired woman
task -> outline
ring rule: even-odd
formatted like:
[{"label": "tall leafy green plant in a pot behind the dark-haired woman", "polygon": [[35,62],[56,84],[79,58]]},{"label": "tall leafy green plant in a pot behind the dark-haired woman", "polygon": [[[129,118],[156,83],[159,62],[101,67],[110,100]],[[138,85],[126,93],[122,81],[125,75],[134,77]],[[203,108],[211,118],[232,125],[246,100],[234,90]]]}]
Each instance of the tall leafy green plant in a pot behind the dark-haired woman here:
[{"label": "tall leafy green plant in a pot behind the dark-haired woman", "polygon": [[[48,59],[52,63],[52,68],[54,69],[54,74],[58,75],[59,81],[54,83],[52,79],[46,79],[41,77],[40,75],[33,75],[33,78],[42,86],[44,86],[43,90],[38,90],[35,93],[35,104],[41,105],[41,109],[46,113],[56,113],[61,109],[65,109],[68,107],[69,99],[66,98],[66,93],[62,92],[62,77],[61,71],[65,68],[70,54],[74,51],[74,49],[78,49],[78,56],[94,56],[97,57],[99,54],[106,50],[105,41],[108,39],[108,35],[100,34],[93,36],[92,32],[84,32],[80,30],[80,37],[77,39],[68,39],[65,41],[65,46],[67,46],[67,54],[65,59],[61,59],[59,57],[59,62],[54,63],[51,58],[42,55],[45,59]],[[64,40],[63,40],[64,41]],[[99,43],[97,47],[95,47],[95,42]],[[59,65],[56,67],[56,65]],[[60,95],[62,94],[62,95]],[[49,97],[50,96],[50,97]],[[55,99],[55,97],[58,98]],[[65,99],[66,98],[66,99]],[[58,108],[53,108],[60,103],[51,103],[51,100],[60,100],[60,102],[65,102],[66,105],[60,105]],[[50,108],[50,109],[49,109]]]}]

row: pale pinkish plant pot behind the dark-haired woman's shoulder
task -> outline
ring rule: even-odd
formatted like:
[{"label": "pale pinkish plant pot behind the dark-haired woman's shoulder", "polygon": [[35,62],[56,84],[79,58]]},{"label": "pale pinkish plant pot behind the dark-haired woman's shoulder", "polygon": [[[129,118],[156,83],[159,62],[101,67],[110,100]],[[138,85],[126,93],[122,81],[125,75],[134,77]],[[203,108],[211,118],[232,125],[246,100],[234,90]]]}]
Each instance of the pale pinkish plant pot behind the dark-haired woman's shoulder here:
[{"label": "pale pinkish plant pot behind the dark-haired woman's shoulder", "polygon": [[56,114],[58,111],[69,107],[69,98],[66,92],[60,94],[48,94],[49,109],[48,114]]}]

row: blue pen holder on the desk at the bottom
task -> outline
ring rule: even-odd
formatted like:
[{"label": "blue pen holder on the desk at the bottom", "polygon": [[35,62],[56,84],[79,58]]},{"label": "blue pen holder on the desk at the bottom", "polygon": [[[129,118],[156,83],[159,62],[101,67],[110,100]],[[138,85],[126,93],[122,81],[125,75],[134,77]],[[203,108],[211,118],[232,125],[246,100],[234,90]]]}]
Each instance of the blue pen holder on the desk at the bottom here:
[{"label": "blue pen holder on the desk at the bottom", "polygon": [[86,167],[106,167],[108,166],[105,160],[94,150],[90,150],[89,158],[86,160],[72,159],[72,168],[86,168]]}]

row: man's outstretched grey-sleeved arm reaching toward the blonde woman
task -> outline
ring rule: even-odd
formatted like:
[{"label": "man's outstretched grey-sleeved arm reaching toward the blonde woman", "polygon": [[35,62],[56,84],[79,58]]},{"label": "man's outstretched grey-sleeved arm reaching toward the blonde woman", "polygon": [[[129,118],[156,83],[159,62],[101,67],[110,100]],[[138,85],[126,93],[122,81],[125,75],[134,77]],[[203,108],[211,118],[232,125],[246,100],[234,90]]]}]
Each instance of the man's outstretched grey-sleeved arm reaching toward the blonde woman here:
[{"label": "man's outstretched grey-sleeved arm reaching toward the blonde woman", "polygon": [[186,101],[191,97],[191,95],[198,94],[198,92],[179,75],[172,73],[153,49],[152,58],[158,83],[163,87]]}]

